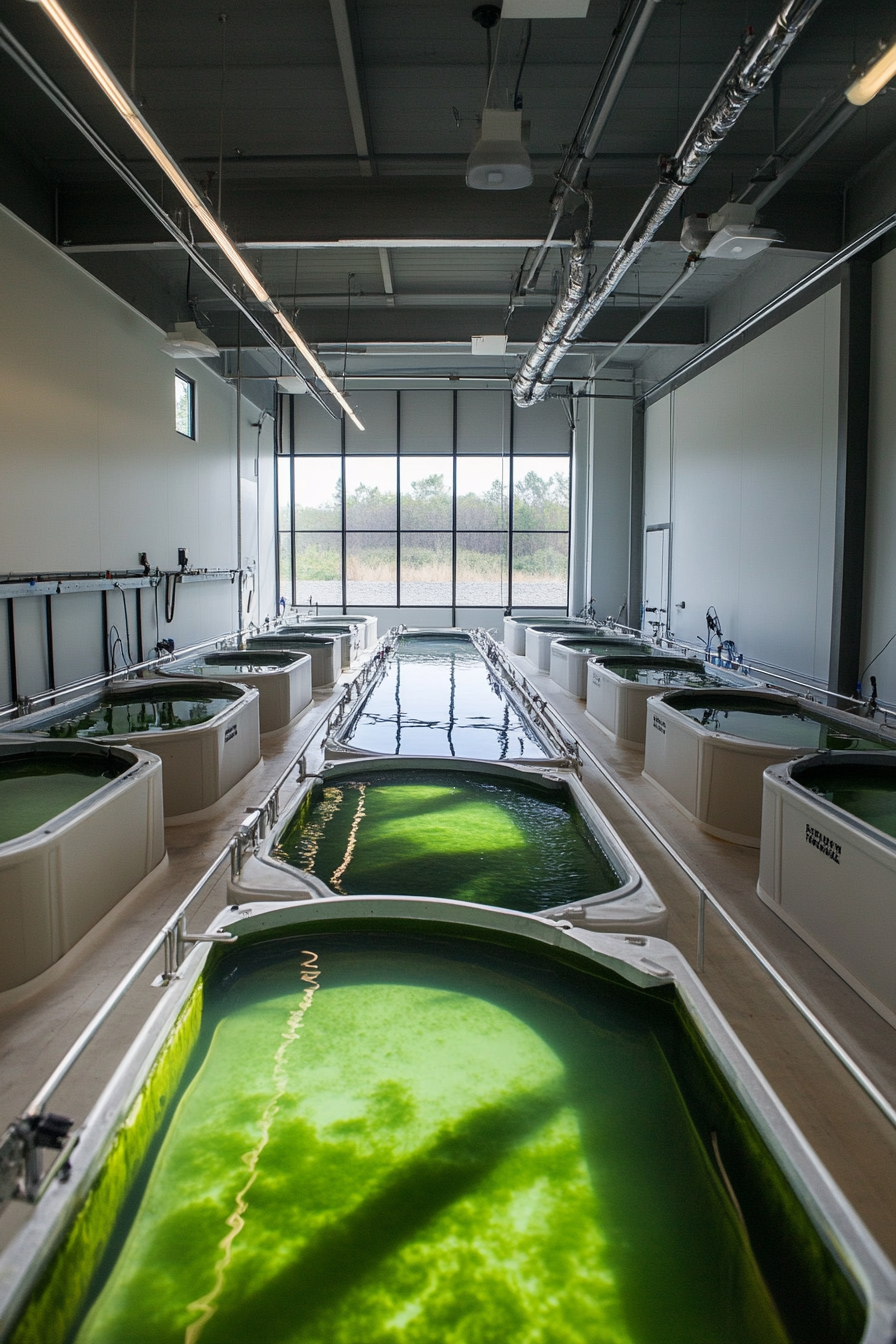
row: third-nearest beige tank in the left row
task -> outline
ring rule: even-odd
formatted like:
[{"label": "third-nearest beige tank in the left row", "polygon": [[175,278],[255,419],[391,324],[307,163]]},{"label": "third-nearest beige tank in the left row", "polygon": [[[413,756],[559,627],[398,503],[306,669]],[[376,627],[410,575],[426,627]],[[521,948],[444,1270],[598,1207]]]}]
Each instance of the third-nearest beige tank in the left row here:
[{"label": "third-nearest beige tank in the left row", "polygon": [[219,649],[160,668],[160,676],[201,676],[253,685],[258,691],[262,734],[277,732],[312,703],[312,660],[308,653]]}]

